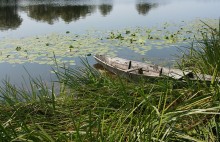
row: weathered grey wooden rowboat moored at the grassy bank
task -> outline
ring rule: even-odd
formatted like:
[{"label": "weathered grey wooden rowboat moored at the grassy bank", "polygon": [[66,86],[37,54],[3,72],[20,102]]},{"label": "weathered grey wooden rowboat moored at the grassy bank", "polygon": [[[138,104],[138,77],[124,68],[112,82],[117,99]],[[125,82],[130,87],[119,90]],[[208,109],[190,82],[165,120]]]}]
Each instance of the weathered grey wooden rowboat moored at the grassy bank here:
[{"label": "weathered grey wooden rowboat moored at the grassy bank", "polygon": [[105,55],[95,55],[95,60],[106,70],[130,79],[150,79],[150,78],[172,78],[175,80],[204,80],[211,81],[212,76],[203,74],[193,74],[192,71],[182,71],[161,67],[154,64],[147,64],[138,61],[127,60],[119,57],[109,57]]}]

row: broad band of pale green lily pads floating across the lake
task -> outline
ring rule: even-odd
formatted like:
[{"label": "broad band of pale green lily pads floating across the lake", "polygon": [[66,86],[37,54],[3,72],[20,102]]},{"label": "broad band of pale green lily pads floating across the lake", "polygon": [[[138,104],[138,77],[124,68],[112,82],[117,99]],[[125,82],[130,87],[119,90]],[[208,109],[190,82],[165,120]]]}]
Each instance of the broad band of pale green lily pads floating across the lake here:
[{"label": "broad band of pale green lily pads floating across the lake", "polygon": [[[203,20],[217,27],[217,19]],[[74,58],[88,54],[116,56],[121,49],[129,49],[146,55],[151,49],[173,48],[190,42],[198,33],[207,32],[199,20],[164,23],[153,28],[136,27],[115,31],[90,31],[76,35],[51,33],[22,39],[0,41],[0,63],[23,64],[26,62],[52,65],[53,55],[57,62],[74,65]],[[198,37],[197,37],[198,38]],[[126,51],[126,50],[123,50]]]}]

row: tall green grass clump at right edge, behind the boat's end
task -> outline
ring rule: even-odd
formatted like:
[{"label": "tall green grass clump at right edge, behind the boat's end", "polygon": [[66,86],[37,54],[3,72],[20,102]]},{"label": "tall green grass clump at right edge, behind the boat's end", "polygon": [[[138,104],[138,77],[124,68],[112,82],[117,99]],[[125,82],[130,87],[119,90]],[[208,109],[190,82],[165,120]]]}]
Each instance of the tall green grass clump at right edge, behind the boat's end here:
[{"label": "tall green grass clump at right edge, behind the boat's end", "polygon": [[182,58],[182,65],[197,72],[219,76],[220,74],[220,22],[219,28],[204,23],[206,31],[196,38]]}]

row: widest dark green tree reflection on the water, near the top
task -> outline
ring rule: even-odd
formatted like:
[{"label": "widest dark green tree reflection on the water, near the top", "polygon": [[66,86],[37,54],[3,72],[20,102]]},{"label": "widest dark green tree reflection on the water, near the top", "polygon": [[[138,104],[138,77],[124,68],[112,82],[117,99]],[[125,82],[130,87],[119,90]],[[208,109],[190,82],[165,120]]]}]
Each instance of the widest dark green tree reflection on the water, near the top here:
[{"label": "widest dark green tree reflection on the water, near the top", "polygon": [[37,20],[53,24],[60,18],[66,23],[76,21],[90,15],[96,10],[95,6],[53,6],[53,5],[34,5],[27,7],[28,16]]}]

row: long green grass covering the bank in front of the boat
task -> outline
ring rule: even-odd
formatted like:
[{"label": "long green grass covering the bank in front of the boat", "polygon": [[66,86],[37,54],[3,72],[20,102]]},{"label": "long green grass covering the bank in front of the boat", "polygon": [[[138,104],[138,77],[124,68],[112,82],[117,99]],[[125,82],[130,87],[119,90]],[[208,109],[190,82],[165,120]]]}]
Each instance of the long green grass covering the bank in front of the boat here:
[{"label": "long green grass covering the bank in front of the boat", "polygon": [[[203,38],[207,43],[206,36]],[[202,50],[191,51],[197,56],[187,55],[192,62],[184,62],[183,68],[189,68],[195,59],[212,61],[204,58]],[[59,94],[40,79],[31,79],[29,89],[5,81],[0,88],[0,140],[220,140],[218,83],[132,82],[101,74],[86,60],[82,63],[84,66],[77,69],[62,66],[54,70],[61,86]],[[216,63],[203,63],[202,67]],[[207,72],[205,67],[193,66],[202,73],[213,69],[219,73],[216,66]]]}]

